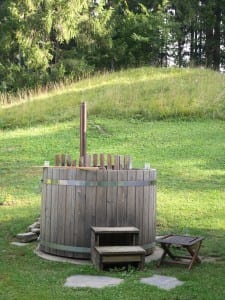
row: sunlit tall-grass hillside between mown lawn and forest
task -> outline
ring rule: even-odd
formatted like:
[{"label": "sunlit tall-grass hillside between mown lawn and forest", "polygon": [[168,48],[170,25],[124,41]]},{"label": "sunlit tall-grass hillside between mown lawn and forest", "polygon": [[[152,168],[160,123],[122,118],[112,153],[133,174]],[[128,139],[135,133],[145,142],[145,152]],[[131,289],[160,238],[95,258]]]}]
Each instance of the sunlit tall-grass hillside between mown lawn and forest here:
[{"label": "sunlit tall-grass hillside between mown lawn and forest", "polygon": [[73,120],[83,101],[89,115],[99,117],[224,120],[224,76],[204,69],[147,67],[106,73],[19,102],[13,99],[10,106],[0,108],[0,128]]}]

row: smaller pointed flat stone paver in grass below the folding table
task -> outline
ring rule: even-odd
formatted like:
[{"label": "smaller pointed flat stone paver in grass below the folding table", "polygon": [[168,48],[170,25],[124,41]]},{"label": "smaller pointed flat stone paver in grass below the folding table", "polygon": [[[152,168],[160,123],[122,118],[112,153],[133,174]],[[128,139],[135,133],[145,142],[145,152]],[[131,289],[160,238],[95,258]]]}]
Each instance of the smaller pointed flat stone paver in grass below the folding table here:
[{"label": "smaller pointed flat stone paver in grass below the folding table", "polygon": [[164,289],[164,290],[171,290],[177,286],[182,285],[184,282],[178,280],[175,277],[170,276],[162,276],[162,275],[153,275],[151,277],[142,278],[142,283],[157,286],[158,288]]}]

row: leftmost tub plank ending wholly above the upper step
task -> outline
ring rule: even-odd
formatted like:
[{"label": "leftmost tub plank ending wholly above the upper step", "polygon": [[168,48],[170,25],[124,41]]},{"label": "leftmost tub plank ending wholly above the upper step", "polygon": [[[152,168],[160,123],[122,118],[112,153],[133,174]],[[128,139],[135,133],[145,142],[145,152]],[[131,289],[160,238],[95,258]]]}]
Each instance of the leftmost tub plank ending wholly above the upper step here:
[{"label": "leftmost tub plank ending wholly above the upper step", "polygon": [[[107,181],[107,171],[99,170],[97,172],[97,181]],[[96,192],[96,226],[106,225],[106,191],[107,188],[104,186],[97,186]]]}]

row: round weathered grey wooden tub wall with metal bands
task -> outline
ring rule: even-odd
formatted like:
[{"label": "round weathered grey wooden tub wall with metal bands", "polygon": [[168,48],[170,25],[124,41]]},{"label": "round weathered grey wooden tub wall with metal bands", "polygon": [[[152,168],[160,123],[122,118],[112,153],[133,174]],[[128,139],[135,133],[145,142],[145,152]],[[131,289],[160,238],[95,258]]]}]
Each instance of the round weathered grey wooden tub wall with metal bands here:
[{"label": "round weathered grey wooden tub wall with metal bands", "polygon": [[148,255],[154,249],[155,219],[155,169],[43,168],[43,252],[88,259],[91,226],[135,226]]}]

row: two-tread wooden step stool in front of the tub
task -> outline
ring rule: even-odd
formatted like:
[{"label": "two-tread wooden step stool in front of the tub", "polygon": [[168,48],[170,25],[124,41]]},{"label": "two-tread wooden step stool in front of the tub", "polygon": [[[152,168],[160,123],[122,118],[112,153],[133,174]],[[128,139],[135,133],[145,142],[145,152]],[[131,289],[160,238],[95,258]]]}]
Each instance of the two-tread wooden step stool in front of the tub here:
[{"label": "two-tread wooden step stool in front of the tub", "polygon": [[104,264],[138,263],[143,269],[145,250],[138,246],[136,227],[91,227],[91,258],[98,270]]}]

